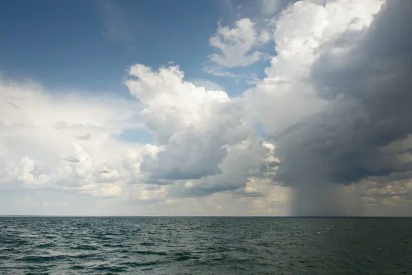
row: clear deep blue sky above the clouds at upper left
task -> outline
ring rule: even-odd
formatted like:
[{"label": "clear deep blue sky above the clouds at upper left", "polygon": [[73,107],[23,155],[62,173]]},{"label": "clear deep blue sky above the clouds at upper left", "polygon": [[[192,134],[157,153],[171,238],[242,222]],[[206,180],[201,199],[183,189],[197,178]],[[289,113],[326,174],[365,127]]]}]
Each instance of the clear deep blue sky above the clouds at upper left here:
[{"label": "clear deep blue sky above the clouds at upper left", "polygon": [[202,70],[214,52],[208,39],[218,21],[231,19],[224,2],[8,1],[0,10],[0,72],[49,88],[128,96],[121,82],[130,65],[174,61],[186,79],[211,80],[240,94],[248,87],[244,80]]}]

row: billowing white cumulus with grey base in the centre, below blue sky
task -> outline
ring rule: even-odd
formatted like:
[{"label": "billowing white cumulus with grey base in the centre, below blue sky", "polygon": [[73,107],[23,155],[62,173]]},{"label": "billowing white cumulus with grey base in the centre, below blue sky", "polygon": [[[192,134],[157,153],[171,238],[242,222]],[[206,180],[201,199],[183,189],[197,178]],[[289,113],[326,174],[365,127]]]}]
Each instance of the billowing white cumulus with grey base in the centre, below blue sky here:
[{"label": "billowing white cumulus with grey base in the centre, below blue sky", "polygon": [[219,174],[219,164],[227,155],[225,146],[238,144],[253,133],[240,100],[184,81],[179,67],[161,67],[155,72],[134,65],[129,74],[135,78],[125,84],[146,104],[141,111],[146,128],[163,146],[140,165],[140,170],[154,179],[200,179]]}]

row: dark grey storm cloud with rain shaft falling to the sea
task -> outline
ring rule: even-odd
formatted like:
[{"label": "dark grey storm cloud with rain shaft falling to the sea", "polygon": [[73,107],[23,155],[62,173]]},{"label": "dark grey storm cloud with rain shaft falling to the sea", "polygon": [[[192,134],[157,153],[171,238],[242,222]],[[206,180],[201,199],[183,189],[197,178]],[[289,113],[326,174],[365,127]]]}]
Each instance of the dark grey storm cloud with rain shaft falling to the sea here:
[{"label": "dark grey storm cloud with rain shaft falling to the sea", "polygon": [[382,150],[412,133],[411,11],[412,1],[388,1],[353,50],[321,49],[312,80],[330,107],[274,137],[282,162],[276,180],[297,188],[295,212],[331,212],[334,191],[325,184],[412,170],[409,148]]}]

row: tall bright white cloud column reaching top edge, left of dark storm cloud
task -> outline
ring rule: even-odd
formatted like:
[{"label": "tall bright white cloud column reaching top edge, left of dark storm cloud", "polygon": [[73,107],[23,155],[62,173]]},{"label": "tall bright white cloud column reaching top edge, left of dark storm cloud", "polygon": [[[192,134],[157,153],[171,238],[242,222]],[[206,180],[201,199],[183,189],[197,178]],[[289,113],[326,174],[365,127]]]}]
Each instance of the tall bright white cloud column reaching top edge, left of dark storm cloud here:
[{"label": "tall bright white cloud column reaching top edge, left of dark storm cloud", "polygon": [[[310,82],[310,68],[324,45],[343,32],[367,28],[382,1],[329,1],[325,5],[297,1],[283,10],[273,28],[277,56],[266,67],[266,78],[244,96],[249,112],[268,133],[277,133],[323,110]],[[352,43],[353,45],[353,43]]]}]

